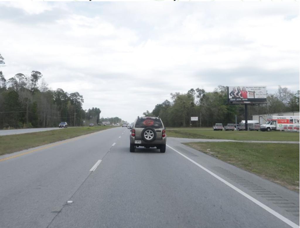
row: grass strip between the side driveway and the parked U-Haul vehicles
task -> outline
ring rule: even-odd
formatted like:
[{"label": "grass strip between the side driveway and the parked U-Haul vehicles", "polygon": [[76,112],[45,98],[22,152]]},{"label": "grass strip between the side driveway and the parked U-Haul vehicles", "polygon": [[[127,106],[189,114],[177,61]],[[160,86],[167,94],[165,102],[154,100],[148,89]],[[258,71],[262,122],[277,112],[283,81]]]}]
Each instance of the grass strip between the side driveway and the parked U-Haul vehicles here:
[{"label": "grass strip between the side driveway and the parked U-Haul vehicles", "polygon": [[214,131],[211,128],[167,128],[168,137],[257,141],[299,141],[299,132]]}]

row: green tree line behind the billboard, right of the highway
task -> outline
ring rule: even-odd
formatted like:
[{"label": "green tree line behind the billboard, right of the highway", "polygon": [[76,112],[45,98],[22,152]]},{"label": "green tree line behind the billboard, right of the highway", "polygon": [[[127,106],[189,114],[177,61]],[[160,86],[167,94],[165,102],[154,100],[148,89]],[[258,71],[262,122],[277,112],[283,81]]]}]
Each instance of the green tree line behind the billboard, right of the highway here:
[{"label": "green tree line behind the billboard, right of the highway", "polygon": [[[159,116],[165,126],[210,127],[214,123],[235,123],[244,120],[244,105],[226,105],[227,87],[218,86],[213,92],[204,89],[190,89],[187,93],[171,93],[171,99],[165,100],[155,108],[143,113],[144,116]],[[274,93],[267,94],[267,103],[248,105],[248,116],[276,112],[299,111],[299,90],[294,93],[278,86]],[[190,121],[190,117],[198,117],[198,122]]]}]

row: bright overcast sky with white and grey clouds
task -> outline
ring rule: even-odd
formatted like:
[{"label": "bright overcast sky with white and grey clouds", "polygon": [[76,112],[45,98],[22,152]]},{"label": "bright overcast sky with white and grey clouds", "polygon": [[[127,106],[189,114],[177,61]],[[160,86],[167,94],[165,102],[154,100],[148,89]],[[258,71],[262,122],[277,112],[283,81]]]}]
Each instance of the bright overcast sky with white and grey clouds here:
[{"label": "bright overcast sky with white and grey clouds", "polygon": [[299,27],[295,1],[0,2],[1,70],[133,122],[190,88],[299,90]]}]

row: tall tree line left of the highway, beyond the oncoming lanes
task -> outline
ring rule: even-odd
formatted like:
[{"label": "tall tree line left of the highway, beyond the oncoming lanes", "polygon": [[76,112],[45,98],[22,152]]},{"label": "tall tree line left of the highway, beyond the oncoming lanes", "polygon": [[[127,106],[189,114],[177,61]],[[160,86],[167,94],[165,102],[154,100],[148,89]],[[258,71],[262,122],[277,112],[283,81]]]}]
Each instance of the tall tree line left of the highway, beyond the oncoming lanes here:
[{"label": "tall tree line left of the highway, beyond the oncoming lanes", "polygon": [[69,126],[101,124],[100,108],[83,110],[83,102],[78,92],[49,90],[40,71],[31,71],[29,76],[17,73],[7,80],[0,71],[0,129],[55,127],[61,121]]}]

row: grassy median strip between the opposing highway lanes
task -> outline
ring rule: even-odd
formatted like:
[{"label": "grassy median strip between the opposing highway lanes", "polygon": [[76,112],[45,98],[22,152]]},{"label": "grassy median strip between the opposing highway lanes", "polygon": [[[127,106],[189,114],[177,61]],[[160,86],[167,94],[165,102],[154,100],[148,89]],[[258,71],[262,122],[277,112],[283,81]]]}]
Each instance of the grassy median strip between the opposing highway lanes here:
[{"label": "grassy median strip between the opposing highway lanes", "polygon": [[71,127],[44,132],[0,136],[0,155],[102,131],[112,126]]}]

